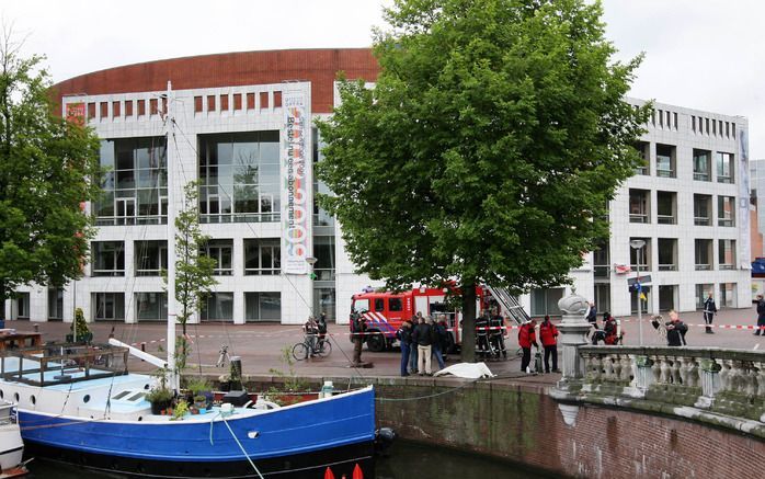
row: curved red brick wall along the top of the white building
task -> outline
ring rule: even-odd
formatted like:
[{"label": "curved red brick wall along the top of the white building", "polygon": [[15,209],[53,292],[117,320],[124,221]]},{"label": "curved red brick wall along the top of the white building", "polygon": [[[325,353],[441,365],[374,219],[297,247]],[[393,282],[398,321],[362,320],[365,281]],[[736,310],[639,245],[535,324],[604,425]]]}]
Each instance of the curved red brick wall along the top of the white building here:
[{"label": "curved red brick wall along the top of the white building", "polygon": [[116,67],[65,80],[54,89],[60,100],[83,93],[162,91],[168,80],[175,90],[308,80],[312,111],[329,113],[340,71],[349,79],[375,81],[379,67],[369,48],[240,52]]}]

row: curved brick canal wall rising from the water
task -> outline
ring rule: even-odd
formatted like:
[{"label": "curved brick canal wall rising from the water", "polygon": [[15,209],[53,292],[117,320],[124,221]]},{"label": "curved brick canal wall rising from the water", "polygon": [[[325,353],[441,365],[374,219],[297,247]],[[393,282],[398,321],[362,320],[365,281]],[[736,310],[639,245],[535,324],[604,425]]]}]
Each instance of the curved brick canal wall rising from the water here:
[{"label": "curved brick canal wall rising from the water", "polygon": [[[347,378],[326,379],[336,388],[349,385]],[[264,390],[270,379],[248,383],[250,390]],[[765,443],[688,420],[581,406],[567,425],[543,387],[483,381],[459,388],[464,383],[431,378],[365,384],[376,386],[378,424],[408,440],[576,477],[763,477]]]}]

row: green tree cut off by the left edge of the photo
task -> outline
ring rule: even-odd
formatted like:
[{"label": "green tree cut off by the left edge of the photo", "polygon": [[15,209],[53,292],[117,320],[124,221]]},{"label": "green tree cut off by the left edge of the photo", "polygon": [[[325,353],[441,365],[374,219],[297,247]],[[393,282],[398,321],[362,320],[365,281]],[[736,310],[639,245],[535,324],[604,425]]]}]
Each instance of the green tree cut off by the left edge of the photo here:
[{"label": "green tree cut off by the left edge of the photo", "polygon": [[[98,197],[99,139],[61,117],[42,56],[0,37],[0,305],[27,283],[64,286],[82,275]],[[5,319],[5,308],[0,308]]]}]

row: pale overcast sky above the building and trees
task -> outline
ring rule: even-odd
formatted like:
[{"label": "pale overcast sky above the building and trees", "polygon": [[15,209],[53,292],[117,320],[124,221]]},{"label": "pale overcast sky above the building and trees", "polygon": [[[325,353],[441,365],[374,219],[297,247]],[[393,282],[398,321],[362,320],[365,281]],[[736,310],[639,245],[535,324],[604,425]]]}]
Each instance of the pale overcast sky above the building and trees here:
[{"label": "pale overcast sky above the building and trees", "polygon": [[[104,68],[225,52],[363,47],[388,0],[0,0],[24,52],[55,81]],[[631,96],[749,118],[765,159],[762,0],[604,0],[607,36],[646,52]]]}]

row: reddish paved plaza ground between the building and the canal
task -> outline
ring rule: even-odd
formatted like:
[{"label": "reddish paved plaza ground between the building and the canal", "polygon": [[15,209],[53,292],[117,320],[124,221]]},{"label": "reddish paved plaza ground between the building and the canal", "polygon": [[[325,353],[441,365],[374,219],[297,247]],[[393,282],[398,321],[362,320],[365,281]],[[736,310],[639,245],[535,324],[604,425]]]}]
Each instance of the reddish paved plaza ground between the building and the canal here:
[{"label": "reddish paved plaza ground between the building and the canal", "polygon": [[[650,317],[650,316],[649,316]],[[619,318],[623,320],[625,331],[625,344],[639,344],[639,328],[637,318]],[[765,338],[752,335],[752,330],[716,328],[715,334],[706,334],[703,327],[701,312],[684,312],[681,315],[690,330],[686,337],[692,346],[720,346],[734,349],[765,349]],[[600,318],[598,318],[600,320]],[[655,333],[650,322],[643,324],[644,344],[663,344],[663,340]],[[741,309],[721,310],[715,318],[716,326],[752,326],[756,323],[754,307]],[[35,322],[35,321],[7,321],[7,328],[18,331],[33,331],[35,327],[43,333],[45,341],[62,341],[69,332],[69,323],[62,322]],[[701,326],[696,326],[701,324]],[[90,324],[94,333],[95,342],[105,342],[110,332],[114,329],[117,340],[140,347],[146,342],[146,351],[158,356],[164,356],[164,337],[167,326],[164,323],[125,324],[124,322],[98,322]],[[205,374],[222,374],[228,368],[216,368],[218,351],[222,344],[228,345],[229,354],[242,358],[242,369],[246,375],[269,375],[272,369],[287,372],[288,365],[281,360],[285,347],[302,341],[302,332],[299,326],[283,326],[276,323],[249,323],[233,326],[231,323],[204,323],[190,324],[189,334],[193,340],[193,350],[190,363],[195,368],[202,365]],[[179,327],[180,332],[180,327]],[[352,344],[347,337],[347,326],[330,324],[332,334],[332,354],[326,358],[315,358],[297,362],[293,367],[296,374],[302,376],[375,376],[391,377],[399,374],[400,354],[398,350],[384,353],[372,353],[364,350],[363,360],[372,362],[374,367],[354,369],[349,367],[353,353]],[[516,331],[511,331],[506,340],[509,349],[507,361],[489,361],[487,365],[496,375],[529,384],[552,384],[560,375],[549,374],[539,376],[526,376],[521,374],[519,357],[516,352]],[[761,345],[762,344],[762,345]],[[453,355],[447,365],[454,364],[458,357]],[[435,365],[435,360],[433,361]],[[150,370],[153,367],[136,358],[130,360],[132,370]],[[435,369],[434,369],[435,370]]]}]

